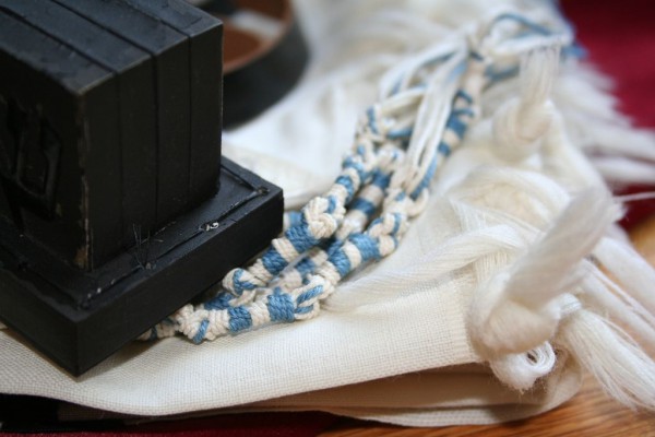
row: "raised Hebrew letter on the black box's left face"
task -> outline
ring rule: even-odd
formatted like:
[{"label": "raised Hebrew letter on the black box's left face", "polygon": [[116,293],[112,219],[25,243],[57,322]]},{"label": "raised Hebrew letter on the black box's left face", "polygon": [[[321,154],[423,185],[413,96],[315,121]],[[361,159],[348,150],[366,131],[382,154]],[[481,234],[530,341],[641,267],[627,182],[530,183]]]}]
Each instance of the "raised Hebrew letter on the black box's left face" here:
[{"label": "raised Hebrew letter on the black box's left face", "polygon": [[0,96],[0,176],[14,208],[52,218],[60,154],[61,142],[37,109]]}]

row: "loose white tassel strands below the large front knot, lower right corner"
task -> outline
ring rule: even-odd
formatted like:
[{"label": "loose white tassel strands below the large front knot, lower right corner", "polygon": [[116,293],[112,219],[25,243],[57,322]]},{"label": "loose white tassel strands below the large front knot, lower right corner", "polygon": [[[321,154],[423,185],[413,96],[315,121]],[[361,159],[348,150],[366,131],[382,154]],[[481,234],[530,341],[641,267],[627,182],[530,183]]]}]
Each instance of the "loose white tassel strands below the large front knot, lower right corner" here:
[{"label": "loose white tassel strands below the large front knot, lower right corner", "polygon": [[655,410],[655,363],[620,328],[581,309],[562,321],[557,343],[622,404]]}]

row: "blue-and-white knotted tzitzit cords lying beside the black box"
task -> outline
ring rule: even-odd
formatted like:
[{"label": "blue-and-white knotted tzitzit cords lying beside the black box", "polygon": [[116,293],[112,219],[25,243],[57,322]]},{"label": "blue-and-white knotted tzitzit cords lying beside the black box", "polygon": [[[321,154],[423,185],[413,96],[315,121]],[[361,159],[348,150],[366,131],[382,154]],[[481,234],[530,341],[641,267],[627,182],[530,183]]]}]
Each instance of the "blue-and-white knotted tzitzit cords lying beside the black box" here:
[{"label": "blue-and-white knotted tzitzit cords lying beside the black box", "polygon": [[342,279],[396,249],[436,172],[478,118],[483,90],[515,74],[525,54],[571,51],[571,33],[558,24],[502,13],[392,69],[330,190],[288,213],[283,236],[251,267],[230,271],[215,297],[182,307],[141,339],[181,332],[200,343],[315,317]]}]

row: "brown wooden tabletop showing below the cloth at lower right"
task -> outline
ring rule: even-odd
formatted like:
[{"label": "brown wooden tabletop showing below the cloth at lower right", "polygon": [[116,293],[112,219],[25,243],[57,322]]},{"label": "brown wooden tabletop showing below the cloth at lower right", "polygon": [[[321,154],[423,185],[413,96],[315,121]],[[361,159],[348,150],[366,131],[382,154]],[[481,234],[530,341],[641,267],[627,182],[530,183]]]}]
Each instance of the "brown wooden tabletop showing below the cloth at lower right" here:
[{"label": "brown wooden tabletop showing below the cloth at lower right", "polygon": [[[635,226],[636,249],[655,265],[655,215]],[[651,355],[653,356],[651,351]],[[438,436],[655,436],[655,414],[633,412],[608,398],[585,375],[582,390],[558,409],[523,421],[489,426],[404,428],[355,420],[342,420],[322,437],[438,437]]]}]

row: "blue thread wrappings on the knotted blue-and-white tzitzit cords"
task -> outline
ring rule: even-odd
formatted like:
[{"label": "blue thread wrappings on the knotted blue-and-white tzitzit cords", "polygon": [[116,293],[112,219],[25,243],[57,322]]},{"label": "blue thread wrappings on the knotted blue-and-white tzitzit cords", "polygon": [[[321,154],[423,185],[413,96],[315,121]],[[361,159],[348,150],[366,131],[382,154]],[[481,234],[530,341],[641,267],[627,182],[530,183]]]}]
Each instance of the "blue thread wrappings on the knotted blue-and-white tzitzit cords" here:
[{"label": "blue thread wrappings on the knotted blue-and-white tzitzit cords", "polygon": [[[505,15],[507,16],[501,16],[498,21],[508,20],[508,19],[515,20],[519,23],[523,24],[524,26],[532,28],[533,32],[536,32],[536,33],[547,32],[546,34],[549,34],[549,31],[545,29],[545,27],[541,27],[538,24],[532,23],[532,22],[521,17],[520,15],[516,15],[516,16],[514,16],[513,14],[505,14]],[[545,31],[543,31],[543,29],[545,29]],[[522,36],[522,35],[519,35],[519,36]],[[574,47],[571,47],[571,49],[574,49]],[[567,50],[567,48],[562,48],[562,56],[564,55],[564,50]],[[472,51],[469,54],[469,56],[473,59],[484,60],[484,58],[478,52]],[[451,55],[446,55],[441,58],[448,59],[449,57],[451,57]],[[430,60],[427,64],[434,63],[437,60],[439,60],[439,58],[434,59],[434,60]],[[450,72],[450,76],[461,74],[464,71],[463,70],[464,67],[465,67],[465,63],[460,62]],[[517,72],[517,70],[519,69],[516,67],[512,67],[511,69],[497,69],[497,70],[495,70],[493,68],[488,68],[485,71],[485,74],[496,81],[496,80],[502,80],[508,75],[513,75]],[[400,82],[395,86],[396,87],[400,86]],[[457,99],[461,99],[462,102],[458,102]],[[456,108],[457,105],[463,105],[463,104],[472,105],[473,101],[474,101],[473,97],[468,93],[466,93],[463,90],[458,90],[453,99],[453,106],[454,106],[454,108]],[[369,122],[370,130],[373,131],[374,133],[379,133],[378,125],[377,125],[377,121],[379,121],[379,120],[376,119],[376,108],[377,107],[368,108],[366,114],[369,118],[368,122]],[[466,133],[466,129],[468,127],[467,120],[465,118],[463,119],[463,116],[473,117],[474,116],[473,109],[471,109],[468,107],[453,109],[446,121],[446,128],[452,130],[460,139],[462,139],[464,137],[464,134]],[[409,128],[400,128],[396,130],[392,130],[388,133],[386,137],[391,140],[402,140],[394,144],[397,146],[398,144],[402,144],[402,143],[405,144],[406,141],[404,141],[404,140],[406,138],[410,138],[412,134],[413,134],[413,128],[409,127]],[[374,141],[374,143],[376,143],[376,141]],[[453,144],[453,146],[455,146],[456,144],[457,143],[455,142]],[[377,144],[377,145],[379,145],[379,144]],[[422,193],[422,191],[429,186],[434,173],[437,172],[438,164],[440,162],[439,160],[441,158],[441,156],[439,156],[439,155],[449,156],[451,154],[451,145],[444,141],[440,141],[437,146],[437,152],[438,153],[430,162],[428,169],[427,169],[426,174],[424,175],[424,177],[421,178],[419,185],[412,192],[410,197],[413,199],[418,198],[418,196],[420,196]],[[370,150],[366,149],[364,145],[360,144],[356,149],[355,157],[353,157],[353,156],[347,157],[343,162],[344,169],[355,168],[355,170],[358,173],[358,176],[359,176],[358,184],[356,184],[357,179],[355,179],[355,177],[350,177],[347,175],[342,175],[336,179],[336,184],[342,185],[347,191],[346,202],[349,202],[348,199],[353,199],[353,197],[356,194],[356,191],[360,187],[366,187],[366,184],[368,184],[368,180],[370,180],[371,185],[374,185],[374,186],[381,188],[382,190],[386,190],[386,188],[390,184],[390,180],[391,180],[391,176],[383,174],[382,170],[379,168],[371,173],[368,173],[365,170],[365,165],[360,161],[360,160],[365,160],[367,154],[377,154],[377,153],[378,153],[378,151],[371,152]],[[398,152],[397,150],[393,151],[394,160],[400,155],[400,153],[402,153],[402,152]],[[365,180],[366,180],[366,182],[365,182]],[[389,194],[389,192],[386,192],[386,194]],[[406,196],[407,194],[405,192],[400,192],[395,196],[395,201],[402,201],[405,199]],[[338,201],[334,196],[331,196],[326,199],[327,199],[326,213],[332,214],[338,206]],[[367,215],[372,215],[377,209],[372,202],[370,202],[369,200],[367,200],[364,197],[356,198],[352,202],[349,208],[362,211]],[[397,248],[400,239],[396,236],[400,233],[401,225],[407,218],[404,214],[393,213],[393,220],[394,220],[393,229],[391,231],[390,237],[392,238],[394,247]],[[291,227],[289,228],[289,231],[287,231],[287,233],[285,235],[289,239],[289,241],[294,245],[296,250],[298,250],[299,252],[303,252],[307,249],[309,249],[313,246],[317,246],[319,243],[321,243],[319,247],[321,247],[323,249],[325,247],[330,247],[330,250],[327,250],[327,261],[334,265],[334,268],[340,273],[340,275],[342,277],[344,277],[345,275],[347,275],[350,272],[353,265],[350,263],[350,260],[346,256],[346,252],[344,251],[343,247],[341,246],[341,244],[342,244],[341,241],[336,241],[334,237],[326,238],[326,239],[323,239],[322,241],[320,241],[318,238],[315,238],[310,233],[309,225],[307,224],[307,221],[305,220],[305,215],[302,213],[298,213],[298,212],[290,213],[289,214],[289,223],[291,223]],[[381,224],[381,223],[382,223],[381,218],[376,218],[369,225],[369,229],[370,229],[370,227]],[[379,239],[372,238],[369,234],[356,233],[356,234],[348,236],[347,239],[348,239],[348,241],[350,241],[350,244],[353,244],[357,248],[357,250],[359,251],[359,253],[361,256],[362,261],[381,258]],[[352,247],[348,247],[349,253],[350,253],[352,249],[353,249]],[[284,269],[284,267],[286,267],[288,264],[286,262],[286,260],[282,257],[282,255],[274,248],[269,249],[269,251],[262,257],[262,263],[264,264],[264,268],[271,273],[278,273],[279,271],[282,271]],[[310,282],[309,277],[311,277],[311,273],[313,273],[317,270],[317,265],[312,261],[311,258],[305,257],[300,260],[300,262],[298,262],[295,265],[295,269],[298,271],[298,273],[301,276],[305,276],[302,279],[302,283],[307,284]],[[235,275],[234,275],[234,282],[236,284],[235,288],[236,290],[238,288],[241,292],[243,290],[255,288],[254,284],[252,284],[251,282],[248,282],[248,281],[241,282],[240,281],[242,273],[243,273],[242,270],[235,272]],[[296,303],[294,303],[293,297],[289,294],[287,294],[286,292],[283,292],[282,288],[276,287],[274,290],[273,294],[266,296],[266,298],[267,298],[266,308],[267,308],[271,321],[293,321],[295,319],[294,314],[307,314],[307,312],[311,312],[314,309],[318,309],[318,307],[314,307],[314,304],[306,306],[306,307],[296,307],[296,305],[310,303],[311,299],[315,298],[317,296],[320,296],[321,293],[323,293],[322,286],[312,287],[310,290],[305,291],[302,294],[300,294],[297,297]],[[236,308],[230,307],[229,306],[230,299],[231,299],[231,297],[227,294],[221,295],[221,296],[217,296],[216,298],[207,302],[204,305],[204,307],[206,309],[224,309],[224,308],[227,309],[229,318],[230,318],[229,319],[229,330],[233,332],[237,332],[237,331],[241,331],[241,330],[251,328],[252,327],[252,315],[248,311],[247,307],[236,307]],[[315,305],[318,305],[318,304],[315,304]],[[193,336],[194,342],[201,342],[203,340],[203,338],[206,335],[206,330],[209,329],[209,323],[210,322],[207,319],[204,319],[201,321],[201,323],[199,326],[199,331]],[[153,335],[156,336],[156,329],[153,329],[151,331],[151,336],[153,336]]]}]

